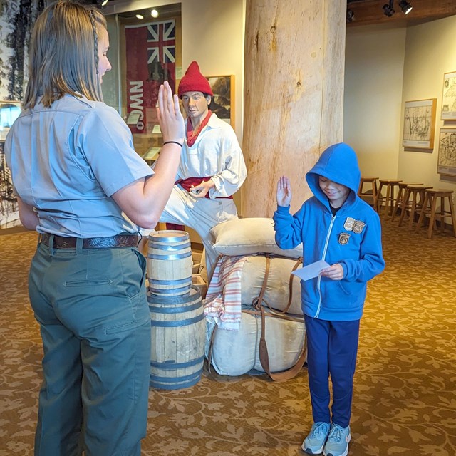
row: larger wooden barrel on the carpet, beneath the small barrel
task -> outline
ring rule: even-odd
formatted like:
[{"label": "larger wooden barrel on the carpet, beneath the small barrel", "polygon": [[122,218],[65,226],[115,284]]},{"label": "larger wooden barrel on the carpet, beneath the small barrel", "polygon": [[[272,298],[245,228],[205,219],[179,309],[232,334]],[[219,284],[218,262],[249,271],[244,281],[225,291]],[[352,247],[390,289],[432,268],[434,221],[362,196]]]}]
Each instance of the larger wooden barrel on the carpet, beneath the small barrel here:
[{"label": "larger wooden barrel on the carpet, beneath the small barrel", "polygon": [[201,379],[206,321],[199,290],[179,296],[147,293],[152,348],[150,386],[178,390]]}]

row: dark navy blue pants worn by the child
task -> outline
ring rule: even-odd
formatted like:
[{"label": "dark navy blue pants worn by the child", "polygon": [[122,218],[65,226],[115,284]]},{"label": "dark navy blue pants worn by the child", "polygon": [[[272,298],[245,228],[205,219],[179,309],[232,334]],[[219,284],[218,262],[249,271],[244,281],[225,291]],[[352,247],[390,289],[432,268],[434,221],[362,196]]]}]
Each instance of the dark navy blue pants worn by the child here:
[{"label": "dark navy blue pants worn by the child", "polygon": [[[307,315],[304,316],[304,320],[314,422],[332,422],[347,427],[351,416],[360,321],[326,321]],[[331,412],[330,376],[333,385]]]}]

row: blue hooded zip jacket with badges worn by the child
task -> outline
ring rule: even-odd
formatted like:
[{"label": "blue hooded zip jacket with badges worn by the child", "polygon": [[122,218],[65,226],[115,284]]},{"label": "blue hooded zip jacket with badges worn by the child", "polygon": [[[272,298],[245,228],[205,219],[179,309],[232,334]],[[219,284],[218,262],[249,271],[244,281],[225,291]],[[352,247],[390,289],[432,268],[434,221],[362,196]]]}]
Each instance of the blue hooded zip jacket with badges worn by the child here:
[{"label": "blue hooded zip jacket with badges worn by the child", "polygon": [[[335,215],[318,183],[323,176],[351,191]],[[350,321],[363,315],[367,281],[385,269],[380,218],[358,197],[361,172],[355,151],[343,142],[328,147],[306,174],[314,196],[296,214],[274,213],[276,244],[292,249],[303,243],[304,266],[323,259],[343,267],[343,279],[318,276],[301,281],[304,314],[322,320]]]}]

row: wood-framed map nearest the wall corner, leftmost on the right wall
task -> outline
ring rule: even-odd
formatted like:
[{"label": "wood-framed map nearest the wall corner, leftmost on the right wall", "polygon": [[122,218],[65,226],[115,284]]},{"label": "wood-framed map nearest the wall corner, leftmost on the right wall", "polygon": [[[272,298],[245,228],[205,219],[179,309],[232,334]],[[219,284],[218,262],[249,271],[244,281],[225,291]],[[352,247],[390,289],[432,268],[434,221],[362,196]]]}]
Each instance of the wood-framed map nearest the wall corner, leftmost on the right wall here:
[{"label": "wood-framed map nearest the wall corner, leftmost on the right wall", "polygon": [[404,147],[434,148],[435,109],[437,98],[406,101],[404,109]]}]

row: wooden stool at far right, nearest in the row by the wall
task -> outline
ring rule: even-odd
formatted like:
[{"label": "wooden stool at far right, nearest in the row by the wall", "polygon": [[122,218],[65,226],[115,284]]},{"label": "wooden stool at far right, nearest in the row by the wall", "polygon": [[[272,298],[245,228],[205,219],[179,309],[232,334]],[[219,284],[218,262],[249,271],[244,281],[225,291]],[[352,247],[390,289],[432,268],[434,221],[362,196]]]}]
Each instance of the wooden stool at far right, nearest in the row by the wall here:
[{"label": "wooden stool at far right, nearest in the row by the wall", "polygon": [[[453,207],[453,191],[446,189],[428,189],[425,191],[425,199],[423,207],[420,212],[420,219],[418,219],[417,229],[421,227],[424,221],[425,215],[429,214],[429,229],[427,229],[427,237],[432,237],[434,231],[434,225],[436,220],[440,222],[440,232],[445,231],[445,218],[452,220],[453,232],[456,237],[456,217],[455,209]],[[437,207],[437,198],[440,198],[440,212],[435,211]],[[445,198],[447,198],[449,210],[445,211]]]}]

